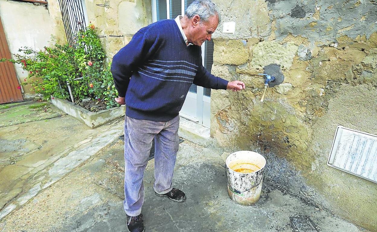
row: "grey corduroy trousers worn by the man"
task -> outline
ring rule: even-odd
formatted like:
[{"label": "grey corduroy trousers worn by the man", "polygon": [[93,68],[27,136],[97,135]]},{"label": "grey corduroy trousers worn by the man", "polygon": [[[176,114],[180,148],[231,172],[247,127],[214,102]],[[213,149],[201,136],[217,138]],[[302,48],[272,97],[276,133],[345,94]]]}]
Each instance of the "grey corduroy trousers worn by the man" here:
[{"label": "grey corduroy trousers worn by the man", "polygon": [[126,116],[124,123],[124,211],[141,213],[144,203],[144,170],[152,140],[155,139],[155,183],[158,194],[172,190],[172,178],[179,147],[179,116],[167,122],[140,120]]}]

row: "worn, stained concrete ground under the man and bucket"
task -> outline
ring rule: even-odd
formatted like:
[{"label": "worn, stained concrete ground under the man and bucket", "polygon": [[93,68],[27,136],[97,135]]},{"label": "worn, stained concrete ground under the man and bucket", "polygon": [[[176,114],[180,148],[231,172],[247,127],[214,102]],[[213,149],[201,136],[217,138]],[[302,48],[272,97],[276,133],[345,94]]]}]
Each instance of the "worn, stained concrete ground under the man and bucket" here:
[{"label": "worn, stained concrete ground under the man and bucket", "polygon": [[[14,148],[0,153],[0,232],[127,231],[121,133],[122,120],[93,130],[69,116],[0,128],[2,141]],[[142,209],[146,231],[368,231],[268,181],[256,205],[232,202],[224,154],[187,140],[180,144],[173,187],[186,193],[183,203],[155,196],[154,160],[149,161]],[[298,230],[293,217],[310,218],[315,230],[305,225]]]}]

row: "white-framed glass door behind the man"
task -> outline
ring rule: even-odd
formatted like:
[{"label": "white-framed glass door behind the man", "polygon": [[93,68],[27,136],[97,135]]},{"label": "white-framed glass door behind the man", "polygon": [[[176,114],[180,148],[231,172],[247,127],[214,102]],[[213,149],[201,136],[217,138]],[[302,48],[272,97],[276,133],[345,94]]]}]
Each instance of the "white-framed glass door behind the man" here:
[{"label": "white-framed glass door behind the man", "polygon": [[[193,0],[152,0],[153,22],[162,19],[175,19],[184,15],[185,9]],[[202,45],[203,65],[210,72],[213,64],[213,41]],[[210,127],[211,89],[192,84],[179,115],[204,126]]]}]

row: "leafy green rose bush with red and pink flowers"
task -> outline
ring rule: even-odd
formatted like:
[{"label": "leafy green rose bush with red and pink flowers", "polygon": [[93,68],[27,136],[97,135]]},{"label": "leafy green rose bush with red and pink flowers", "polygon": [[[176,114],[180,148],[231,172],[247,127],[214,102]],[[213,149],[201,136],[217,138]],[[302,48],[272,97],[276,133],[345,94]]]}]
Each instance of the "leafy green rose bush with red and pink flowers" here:
[{"label": "leafy green rose bush with red and pink flowers", "polygon": [[110,72],[105,64],[106,54],[97,36],[97,29],[90,24],[74,35],[74,44],[59,44],[36,51],[24,47],[15,59],[0,59],[20,64],[28,71],[23,85],[31,85],[34,92],[44,97],[70,100],[68,85],[75,100],[90,97],[103,102],[107,108],[119,106],[113,99],[118,96]]}]

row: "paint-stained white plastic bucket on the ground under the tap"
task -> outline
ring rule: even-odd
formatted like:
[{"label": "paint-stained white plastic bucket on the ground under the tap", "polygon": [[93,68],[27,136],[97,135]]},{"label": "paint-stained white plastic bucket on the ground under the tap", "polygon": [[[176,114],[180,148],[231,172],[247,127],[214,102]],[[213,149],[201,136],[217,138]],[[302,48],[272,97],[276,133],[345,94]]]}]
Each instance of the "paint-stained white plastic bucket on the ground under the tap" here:
[{"label": "paint-stained white plastic bucket on the ground under the tap", "polygon": [[259,153],[238,151],[225,161],[229,197],[240,205],[253,205],[261,197],[266,159]]}]

